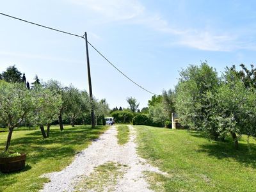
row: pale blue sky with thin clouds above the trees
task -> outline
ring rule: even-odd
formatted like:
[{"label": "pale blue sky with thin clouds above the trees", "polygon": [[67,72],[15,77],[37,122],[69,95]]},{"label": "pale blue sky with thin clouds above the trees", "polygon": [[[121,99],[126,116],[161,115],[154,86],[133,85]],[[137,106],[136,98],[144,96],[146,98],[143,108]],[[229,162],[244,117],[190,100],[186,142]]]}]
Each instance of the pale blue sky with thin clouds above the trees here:
[{"label": "pale blue sky with thin clouds above the trees", "polygon": [[[83,36],[116,67],[151,92],[177,84],[179,70],[207,60],[218,72],[255,63],[256,1],[61,0],[2,1],[0,12]],[[88,90],[83,39],[0,15],[0,71],[16,65]],[[90,48],[93,95],[109,106],[140,108],[152,97]]]}]

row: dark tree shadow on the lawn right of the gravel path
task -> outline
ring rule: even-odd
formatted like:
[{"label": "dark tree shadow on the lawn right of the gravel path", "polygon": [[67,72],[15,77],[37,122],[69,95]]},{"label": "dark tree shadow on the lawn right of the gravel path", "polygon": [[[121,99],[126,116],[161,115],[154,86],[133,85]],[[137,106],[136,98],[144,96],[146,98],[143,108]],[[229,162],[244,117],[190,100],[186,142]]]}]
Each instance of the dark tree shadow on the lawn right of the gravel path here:
[{"label": "dark tree shadow on the lawn right of the gravel path", "polygon": [[[190,131],[191,136],[196,138],[207,138],[204,132]],[[234,159],[235,161],[244,164],[245,166],[252,166],[256,168],[256,144],[250,143],[249,145],[241,138],[239,140],[239,149],[236,150],[232,138],[227,137],[225,141],[212,141],[199,145],[200,149],[197,152],[206,153],[208,156],[216,157],[218,159]],[[241,143],[243,141],[243,143]]]}]

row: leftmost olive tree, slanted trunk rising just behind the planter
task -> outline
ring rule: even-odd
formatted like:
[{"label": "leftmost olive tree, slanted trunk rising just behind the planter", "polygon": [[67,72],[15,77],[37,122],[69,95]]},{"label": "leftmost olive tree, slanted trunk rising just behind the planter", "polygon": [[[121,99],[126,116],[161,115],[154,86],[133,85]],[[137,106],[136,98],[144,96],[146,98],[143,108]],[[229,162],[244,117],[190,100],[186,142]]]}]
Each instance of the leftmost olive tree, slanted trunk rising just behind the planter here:
[{"label": "leftmost olive tree, slanted trunk rising just behind the planter", "polygon": [[0,121],[8,124],[7,151],[12,139],[12,132],[25,116],[33,109],[32,95],[22,83],[0,81]]}]

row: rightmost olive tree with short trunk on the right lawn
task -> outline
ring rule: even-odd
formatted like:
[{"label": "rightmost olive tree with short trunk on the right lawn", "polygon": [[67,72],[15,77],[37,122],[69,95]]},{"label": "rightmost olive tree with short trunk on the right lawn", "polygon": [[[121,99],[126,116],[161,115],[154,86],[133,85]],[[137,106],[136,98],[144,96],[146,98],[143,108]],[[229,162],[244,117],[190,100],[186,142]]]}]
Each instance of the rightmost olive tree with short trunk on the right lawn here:
[{"label": "rightmost olive tree with short trunk on the right lawn", "polygon": [[[233,69],[228,69],[216,93],[209,94],[216,103],[214,111],[218,133],[232,136],[238,148],[238,138],[242,134],[255,136],[256,95],[255,88],[246,87],[243,79]],[[238,136],[237,136],[238,135]]]}]

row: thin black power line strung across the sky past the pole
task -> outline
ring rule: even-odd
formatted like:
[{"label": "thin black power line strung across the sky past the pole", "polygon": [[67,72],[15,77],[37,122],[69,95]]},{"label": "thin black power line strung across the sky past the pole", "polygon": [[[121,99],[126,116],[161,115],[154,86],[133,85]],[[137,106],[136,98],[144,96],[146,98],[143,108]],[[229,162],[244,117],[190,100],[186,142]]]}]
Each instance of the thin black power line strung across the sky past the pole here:
[{"label": "thin black power line strung across the sky past the pole", "polygon": [[[76,35],[76,34],[74,34],[74,33],[68,33],[68,32],[66,32],[66,31],[61,31],[61,30],[59,30],[59,29],[49,28],[49,27],[47,27],[47,26],[43,26],[43,25],[37,24],[37,23],[35,23],[35,22],[30,22],[30,21],[28,21],[28,20],[20,19],[20,18],[18,18],[18,17],[13,17],[13,16],[11,16],[11,15],[7,15],[7,14],[1,13],[1,12],[0,12],[0,15],[4,15],[4,16],[10,17],[10,18],[12,18],[12,19],[17,19],[17,20],[20,20],[20,21],[22,21],[22,22],[27,22],[27,23],[33,24],[33,25],[35,25],[35,26],[40,26],[40,27],[42,27],[42,28],[51,29],[51,30],[53,30],[53,31],[58,31],[58,32],[60,32],[60,33],[65,33],[65,34],[67,34],[67,35],[77,36],[77,37],[79,37],[79,38],[85,39],[85,37],[84,37],[84,36],[81,36],[81,35]],[[87,42],[88,42],[88,41],[87,41]],[[90,44],[90,42],[88,42],[88,44]],[[111,63],[100,51],[98,51],[98,49],[96,49],[92,44],[90,44],[90,45],[92,46],[92,48],[93,48],[95,51],[97,51],[97,52],[100,54],[100,56],[102,56],[102,58],[104,58],[106,61],[108,61],[108,63],[109,63],[110,65],[112,65],[112,67],[114,67],[118,72],[120,72],[120,74],[122,74],[123,76],[125,76],[129,81],[131,81],[132,83],[136,84],[136,86],[140,87],[141,89],[145,90],[146,92],[151,93],[152,95],[157,95],[156,93],[150,92],[150,91],[148,91],[147,89],[143,88],[143,86],[141,86],[140,84],[138,84],[138,83],[136,83],[135,81],[133,81],[130,77],[126,76],[120,69],[118,69],[113,63]]]}]

